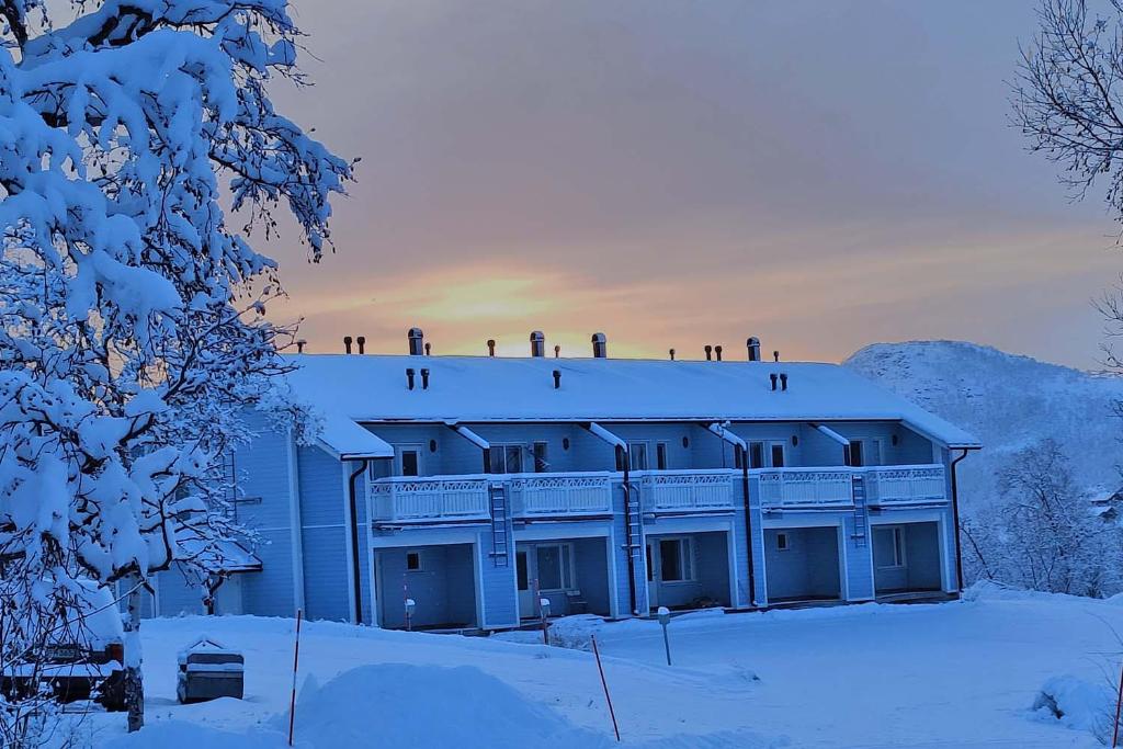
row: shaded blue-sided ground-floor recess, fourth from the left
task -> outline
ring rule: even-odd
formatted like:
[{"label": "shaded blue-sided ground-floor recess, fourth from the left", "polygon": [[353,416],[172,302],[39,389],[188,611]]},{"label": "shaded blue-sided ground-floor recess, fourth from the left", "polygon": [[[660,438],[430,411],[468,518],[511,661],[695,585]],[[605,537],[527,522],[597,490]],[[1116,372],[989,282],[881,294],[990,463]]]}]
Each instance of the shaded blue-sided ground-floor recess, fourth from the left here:
[{"label": "shaded blue-sided ground-floor recess, fourth from the left", "polygon": [[[780,550],[778,537],[787,538]],[[768,600],[842,596],[838,527],[765,529]]]}]

